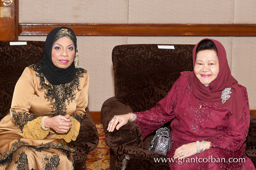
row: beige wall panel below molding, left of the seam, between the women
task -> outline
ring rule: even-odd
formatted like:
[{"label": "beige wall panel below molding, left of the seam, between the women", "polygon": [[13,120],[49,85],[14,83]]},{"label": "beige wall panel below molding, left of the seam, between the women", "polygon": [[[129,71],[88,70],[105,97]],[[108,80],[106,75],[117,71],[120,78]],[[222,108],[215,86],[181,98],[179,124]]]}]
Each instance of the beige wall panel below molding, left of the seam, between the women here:
[{"label": "beige wall panel below molding, left of the seam, between the women", "polygon": [[[46,36],[19,36],[19,40],[45,41]],[[90,75],[90,111],[100,111],[103,102],[115,96],[112,50],[126,44],[127,37],[79,36],[79,66]]]}]

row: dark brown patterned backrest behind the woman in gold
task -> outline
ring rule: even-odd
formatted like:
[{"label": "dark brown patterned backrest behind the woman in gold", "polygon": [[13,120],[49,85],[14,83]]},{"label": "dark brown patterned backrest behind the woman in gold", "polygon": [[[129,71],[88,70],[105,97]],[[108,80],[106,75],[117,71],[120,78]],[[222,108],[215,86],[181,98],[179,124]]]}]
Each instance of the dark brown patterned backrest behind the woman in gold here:
[{"label": "dark brown patterned backrest behind the woman in gold", "polygon": [[0,120],[9,112],[13,91],[24,69],[44,57],[44,41],[27,41],[27,45],[10,46],[0,41]]}]

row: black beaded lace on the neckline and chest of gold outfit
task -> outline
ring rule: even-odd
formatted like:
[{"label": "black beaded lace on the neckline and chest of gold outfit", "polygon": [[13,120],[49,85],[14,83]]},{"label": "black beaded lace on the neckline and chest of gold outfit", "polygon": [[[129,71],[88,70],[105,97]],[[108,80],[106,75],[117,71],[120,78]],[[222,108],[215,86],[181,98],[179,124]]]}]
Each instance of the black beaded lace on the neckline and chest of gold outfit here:
[{"label": "black beaded lace on the neckline and chest of gold outfit", "polygon": [[[83,74],[86,73],[86,70],[82,68],[78,68],[76,72],[76,76],[70,83],[60,84],[60,85],[52,85],[45,83],[45,76],[41,71],[41,67],[37,64],[33,64],[29,66],[35,72],[37,72],[36,76],[40,78],[40,90],[46,89],[45,91],[45,98],[50,101],[52,104],[52,117],[57,115],[66,115],[67,105],[66,101],[69,105],[76,98],[75,90],[80,91],[79,89],[79,78],[83,77]],[[73,116],[78,121],[83,119],[83,116],[80,118],[79,116]]]}]

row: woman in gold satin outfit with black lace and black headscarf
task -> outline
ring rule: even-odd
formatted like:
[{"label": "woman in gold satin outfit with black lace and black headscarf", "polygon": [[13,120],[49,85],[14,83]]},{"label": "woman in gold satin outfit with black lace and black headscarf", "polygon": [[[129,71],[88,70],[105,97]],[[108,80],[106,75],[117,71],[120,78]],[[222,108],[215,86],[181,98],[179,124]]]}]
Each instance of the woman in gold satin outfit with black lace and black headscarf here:
[{"label": "woman in gold satin outfit with black lace and black headscarf", "polygon": [[0,122],[0,169],[74,169],[75,151],[67,142],[79,133],[88,90],[74,32],[53,29],[44,58],[25,68],[10,112]]}]

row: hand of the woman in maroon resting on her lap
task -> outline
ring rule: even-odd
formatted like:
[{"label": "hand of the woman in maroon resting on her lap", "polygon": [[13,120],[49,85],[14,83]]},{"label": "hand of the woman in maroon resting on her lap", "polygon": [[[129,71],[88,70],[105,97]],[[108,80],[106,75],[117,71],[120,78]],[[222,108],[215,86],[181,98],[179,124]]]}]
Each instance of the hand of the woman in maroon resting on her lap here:
[{"label": "hand of the woman in maroon resting on her lap", "polygon": [[[183,155],[182,155],[183,153]],[[188,143],[185,145],[180,146],[179,148],[177,148],[174,152],[174,158],[186,158],[189,156],[192,156],[194,154],[197,153],[197,149],[196,149],[196,142],[192,142],[192,143]]]}]

